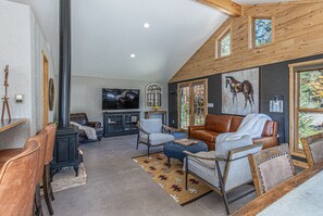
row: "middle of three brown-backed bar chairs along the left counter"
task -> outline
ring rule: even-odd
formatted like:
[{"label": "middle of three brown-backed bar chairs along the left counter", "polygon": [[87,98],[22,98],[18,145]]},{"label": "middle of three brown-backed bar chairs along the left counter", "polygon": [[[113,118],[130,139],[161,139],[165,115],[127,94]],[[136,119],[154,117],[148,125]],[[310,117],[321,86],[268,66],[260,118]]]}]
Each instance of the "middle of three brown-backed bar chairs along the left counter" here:
[{"label": "middle of three brown-backed bar chairs along the left counter", "polygon": [[47,131],[45,129],[40,130],[36,136],[29,138],[29,140],[35,140],[40,144],[40,153],[39,153],[39,160],[38,160],[38,167],[37,167],[37,185],[36,185],[36,191],[35,191],[35,214],[36,215],[42,215],[42,208],[41,208],[41,199],[40,199],[40,181],[42,179],[44,174],[44,164],[45,164],[45,157],[46,157],[46,150],[47,150]]}]

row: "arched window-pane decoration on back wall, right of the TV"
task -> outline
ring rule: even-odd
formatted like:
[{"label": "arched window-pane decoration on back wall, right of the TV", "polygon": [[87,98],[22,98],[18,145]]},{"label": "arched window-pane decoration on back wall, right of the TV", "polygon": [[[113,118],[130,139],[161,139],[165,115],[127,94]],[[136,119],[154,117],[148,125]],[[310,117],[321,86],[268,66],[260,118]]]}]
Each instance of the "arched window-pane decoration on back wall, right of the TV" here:
[{"label": "arched window-pane decoration on back wall, right of the TV", "polygon": [[162,106],[162,87],[158,84],[150,84],[146,88],[147,107]]}]

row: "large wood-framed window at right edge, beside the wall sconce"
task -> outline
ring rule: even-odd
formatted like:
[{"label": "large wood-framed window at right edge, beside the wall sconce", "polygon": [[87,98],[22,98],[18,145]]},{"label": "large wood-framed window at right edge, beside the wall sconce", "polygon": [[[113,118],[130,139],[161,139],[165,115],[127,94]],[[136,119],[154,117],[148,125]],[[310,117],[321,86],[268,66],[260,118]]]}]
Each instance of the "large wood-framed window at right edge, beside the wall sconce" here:
[{"label": "large wood-framed window at right edge, beside the wall sconce", "polygon": [[[322,61],[323,63],[323,61]],[[323,132],[323,64],[290,67],[290,148],[303,156],[300,139]]]}]

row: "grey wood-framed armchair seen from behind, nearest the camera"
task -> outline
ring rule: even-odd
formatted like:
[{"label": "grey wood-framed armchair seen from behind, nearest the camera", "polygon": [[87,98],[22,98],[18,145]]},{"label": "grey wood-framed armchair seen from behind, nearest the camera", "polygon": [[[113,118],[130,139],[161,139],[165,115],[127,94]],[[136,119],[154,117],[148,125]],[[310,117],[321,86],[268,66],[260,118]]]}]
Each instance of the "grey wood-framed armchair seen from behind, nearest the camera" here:
[{"label": "grey wood-framed armchair seen from behind, nearest the camera", "polygon": [[210,188],[223,198],[226,213],[229,215],[228,204],[254,192],[247,191],[239,198],[228,201],[227,193],[243,185],[252,183],[252,176],[248,162],[248,154],[260,152],[262,144],[252,144],[249,136],[239,140],[216,143],[216,150],[192,154],[184,152],[185,157],[185,188],[190,187],[188,173],[199,177]]}]

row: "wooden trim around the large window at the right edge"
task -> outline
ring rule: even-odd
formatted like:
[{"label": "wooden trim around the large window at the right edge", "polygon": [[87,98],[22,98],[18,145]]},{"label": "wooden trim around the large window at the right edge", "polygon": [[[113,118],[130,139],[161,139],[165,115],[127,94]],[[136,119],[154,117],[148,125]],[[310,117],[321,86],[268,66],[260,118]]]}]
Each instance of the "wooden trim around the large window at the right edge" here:
[{"label": "wooden trim around the large window at the right edge", "polygon": [[[298,149],[297,132],[298,132],[298,116],[299,112],[306,112],[307,109],[299,109],[299,73],[309,69],[322,68],[323,59],[289,64],[289,150],[291,155],[306,158],[303,151]],[[298,111],[296,111],[296,109]],[[311,111],[322,112],[323,109],[311,109]]]}]

